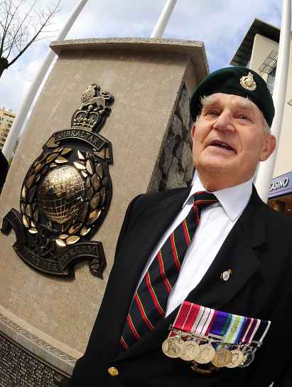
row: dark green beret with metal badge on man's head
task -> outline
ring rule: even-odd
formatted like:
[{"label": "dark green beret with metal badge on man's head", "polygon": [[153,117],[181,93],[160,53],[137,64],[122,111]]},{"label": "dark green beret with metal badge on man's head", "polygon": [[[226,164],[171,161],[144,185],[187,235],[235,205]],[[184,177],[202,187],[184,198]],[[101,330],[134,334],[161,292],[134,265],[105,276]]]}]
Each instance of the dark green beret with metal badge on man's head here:
[{"label": "dark green beret with metal badge on man's head", "polygon": [[200,98],[223,92],[225,94],[249,97],[263,113],[269,127],[273,122],[275,108],[266,82],[254,70],[244,67],[227,67],[214,71],[198,85],[190,100],[190,114],[195,117],[202,108]]}]

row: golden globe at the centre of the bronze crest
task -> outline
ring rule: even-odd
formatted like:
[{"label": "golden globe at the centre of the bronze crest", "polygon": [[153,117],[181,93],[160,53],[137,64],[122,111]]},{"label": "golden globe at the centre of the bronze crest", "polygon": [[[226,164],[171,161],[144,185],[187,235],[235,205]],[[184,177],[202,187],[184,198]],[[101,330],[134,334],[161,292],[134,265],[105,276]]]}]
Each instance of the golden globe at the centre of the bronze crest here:
[{"label": "golden globe at the centre of the bronze crest", "polygon": [[77,215],[85,196],[85,184],[69,165],[50,171],[38,186],[38,206],[54,222],[63,224]]}]

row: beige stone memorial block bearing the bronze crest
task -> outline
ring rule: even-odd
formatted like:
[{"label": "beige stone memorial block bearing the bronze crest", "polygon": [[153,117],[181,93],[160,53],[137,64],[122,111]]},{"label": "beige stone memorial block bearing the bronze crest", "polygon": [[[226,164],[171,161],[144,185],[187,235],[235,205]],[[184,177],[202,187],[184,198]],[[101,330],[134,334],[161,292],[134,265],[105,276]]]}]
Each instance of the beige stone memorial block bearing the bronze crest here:
[{"label": "beige stone memorial block bearing the bronze crest", "polygon": [[51,47],[58,60],[0,198],[4,387],[56,386],[72,373],[129,201],[191,180],[189,95],[208,71],[200,42],[90,39]]}]

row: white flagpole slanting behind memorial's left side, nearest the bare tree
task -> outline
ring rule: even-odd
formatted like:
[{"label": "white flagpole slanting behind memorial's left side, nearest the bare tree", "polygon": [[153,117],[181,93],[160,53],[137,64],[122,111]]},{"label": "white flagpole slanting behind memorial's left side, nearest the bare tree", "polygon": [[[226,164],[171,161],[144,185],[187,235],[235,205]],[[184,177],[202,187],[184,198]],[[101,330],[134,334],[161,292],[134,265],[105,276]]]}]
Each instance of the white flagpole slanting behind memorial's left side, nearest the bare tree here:
[{"label": "white flagpole slanting behind memorial's left side, nearest the bare tree", "polygon": [[[65,23],[65,26],[63,27],[62,31],[60,31],[58,38],[56,39],[57,41],[64,40],[68,31],[72,27],[72,24],[75,22],[77,16],[80,14],[80,12],[82,11],[87,1],[88,0],[81,0],[80,3],[76,6],[70,18],[68,18],[67,23]],[[36,93],[40,88],[40,84],[43,82],[43,78],[45,78],[45,74],[47,73],[48,68],[50,67],[50,64],[53,62],[54,58],[55,58],[55,53],[51,49],[49,49],[48,54],[46,55],[45,60],[43,61],[43,64],[41,65],[36,77],[33,80],[33,83],[28,89],[26,97],[24,98],[21,104],[21,108],[18,114],[16,115],[15,120],[13,121],[11,129],[9,130],[9,134],[6,138],[4,147],[2,149],[2,152],[6,157],[6,159],[10,159],[12,157],[12,150],[13,150],[14,144],[16,143],[16,139],[19,133],[21,132],[21,128],[28,114],[28,110],[31,108],[33,100],[36,97]]]}]

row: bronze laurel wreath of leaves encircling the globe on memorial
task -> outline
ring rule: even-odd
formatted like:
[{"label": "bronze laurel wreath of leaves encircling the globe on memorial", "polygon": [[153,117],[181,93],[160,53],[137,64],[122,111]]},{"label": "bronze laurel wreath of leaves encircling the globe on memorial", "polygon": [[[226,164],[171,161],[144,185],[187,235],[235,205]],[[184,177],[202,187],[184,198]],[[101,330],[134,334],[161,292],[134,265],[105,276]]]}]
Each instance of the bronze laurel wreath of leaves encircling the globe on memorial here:
[{"label": "bronze laurel wreath of leaves encircling the globe on memorial", "polygon": [[[39,233],[39,208],[36,201],[38,184],[46,172],[53,170],[69,160],[65,157],[72,148],[58,147],[53,152],[43,152],[28,170],[21,188],[21,215],[23,225],[31,234]],[[85,181],[85,201],[79,208],[77,216],[62,226],[62,233],[55,238],[55,243],[63,248],[76,243],[82,236],[90,233],[97,226],[107,196],[108,179],[100,163],[98,153],[77,151],[73,165]]]}]

